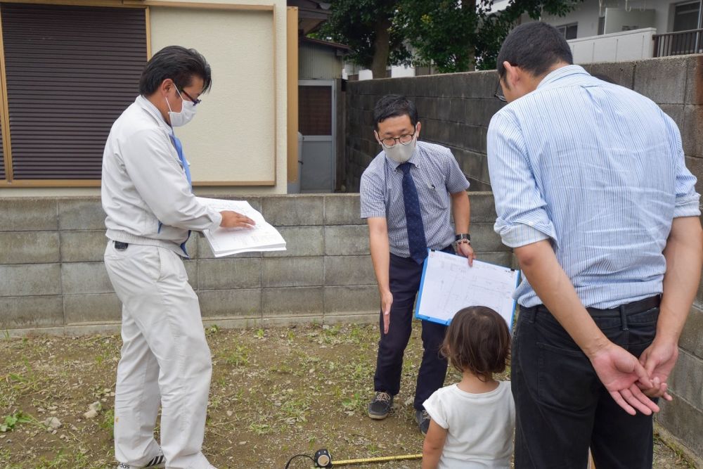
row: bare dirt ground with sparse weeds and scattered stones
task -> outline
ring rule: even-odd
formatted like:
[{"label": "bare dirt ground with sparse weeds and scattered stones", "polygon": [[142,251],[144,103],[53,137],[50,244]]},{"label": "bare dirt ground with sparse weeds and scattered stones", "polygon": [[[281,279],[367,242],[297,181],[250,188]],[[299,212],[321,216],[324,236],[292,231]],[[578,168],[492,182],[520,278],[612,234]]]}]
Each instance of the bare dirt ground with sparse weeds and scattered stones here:
[{"label": "bare dirt ground with sparse weeds and scattered stones", "polygon": [[[214,371],[205,454],[220,469],[283,469],[291,456],[320,448],[337,461],[421,453],[412,407],[419,335],[415,327],[394,413],[375,421],[366,404],[377,327],[208,328]],[[119,335],[0,339],[0,468],[115,468],[120,345]],[[447,383],[456,379],[449,373]],[[100,409],[89,413],[91,404]],[[659,439],[654,451],[654,468],[694,467]],[[340,467],[419,469],[420,462]],[[297,458],[290,469],[297,468],[311,463]]]}]

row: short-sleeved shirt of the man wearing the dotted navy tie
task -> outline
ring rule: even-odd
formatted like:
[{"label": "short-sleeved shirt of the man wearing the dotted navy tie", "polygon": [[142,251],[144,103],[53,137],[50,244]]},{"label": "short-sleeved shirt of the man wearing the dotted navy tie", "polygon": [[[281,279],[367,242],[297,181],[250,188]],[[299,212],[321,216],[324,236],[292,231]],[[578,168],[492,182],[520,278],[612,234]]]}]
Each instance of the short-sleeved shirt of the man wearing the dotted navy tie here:
[{"label": "short-sleeved shirt of the man wearing the dotted navy tie", "polygon": [[[461,172],[451,150],[418,141],[408,160],[410,174],[420,199],[427,248],[443,249],[454,241],[451,227],[450,194],[466,191],[469,182]],[[403,200],[403,172],[399,163],[381,151],[361,175],[361,218],[385,217],[390,251],[410,257]]]}]

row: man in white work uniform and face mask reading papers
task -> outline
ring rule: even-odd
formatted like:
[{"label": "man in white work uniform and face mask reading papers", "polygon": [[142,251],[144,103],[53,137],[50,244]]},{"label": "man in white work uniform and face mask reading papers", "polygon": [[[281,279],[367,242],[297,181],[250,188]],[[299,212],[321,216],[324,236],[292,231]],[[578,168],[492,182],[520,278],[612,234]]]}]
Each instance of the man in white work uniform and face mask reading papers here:
[{"label": "man in white work uniform and face mask reading papers", "polygon": [[[215,212],[191,191],[174,127],[193,118],[211,84],[200,53],[162,49],[147,63],[140,96],[112,124],[105,143],[105,268],[122,302],[115,389],[119,469],[214,469],[200,451],[212,364],[182,259],[191,230],[254,221]],[[159,404],[161,445],[153,434]]]}]

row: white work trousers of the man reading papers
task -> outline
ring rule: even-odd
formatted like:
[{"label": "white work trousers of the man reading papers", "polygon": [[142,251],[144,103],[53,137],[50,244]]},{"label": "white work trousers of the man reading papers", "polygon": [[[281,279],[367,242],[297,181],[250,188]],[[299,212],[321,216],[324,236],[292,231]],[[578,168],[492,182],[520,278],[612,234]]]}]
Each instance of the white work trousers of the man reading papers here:
[{"label": "white work trousers of the man reading papers", "polygon": [[156,246],[105,249],[122,302],[122,358],[115,389],[115,457],[140,468],[161,449],[169,469],[207,469],[200,451],[212,374],[198,297],[181,257]]}]

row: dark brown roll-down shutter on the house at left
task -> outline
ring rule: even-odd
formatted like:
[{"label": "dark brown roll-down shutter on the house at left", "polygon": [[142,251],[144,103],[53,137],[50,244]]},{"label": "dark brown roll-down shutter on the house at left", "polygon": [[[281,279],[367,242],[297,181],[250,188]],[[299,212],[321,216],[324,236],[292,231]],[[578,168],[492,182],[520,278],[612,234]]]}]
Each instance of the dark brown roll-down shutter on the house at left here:
[{"label": "dark brown roll-down shutter on the house at left", "polygon": [[1,4],[15,179],[100,179],[138,94],[143,9]]}]

